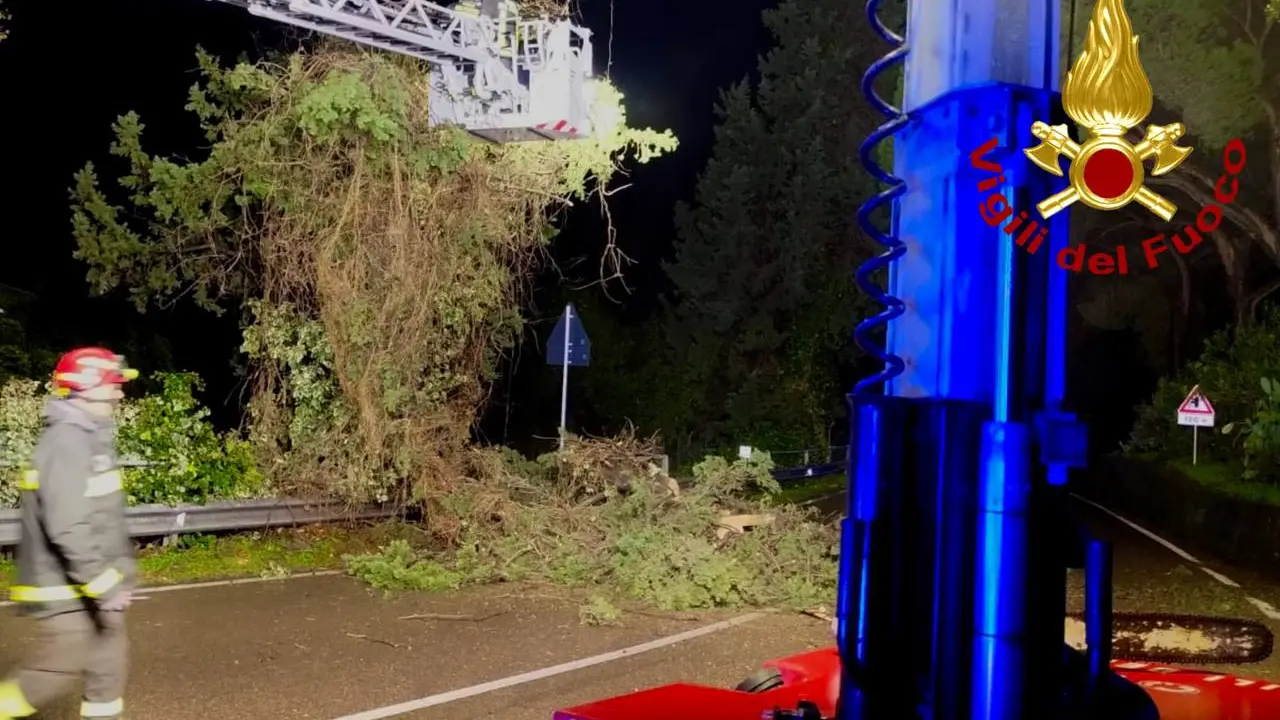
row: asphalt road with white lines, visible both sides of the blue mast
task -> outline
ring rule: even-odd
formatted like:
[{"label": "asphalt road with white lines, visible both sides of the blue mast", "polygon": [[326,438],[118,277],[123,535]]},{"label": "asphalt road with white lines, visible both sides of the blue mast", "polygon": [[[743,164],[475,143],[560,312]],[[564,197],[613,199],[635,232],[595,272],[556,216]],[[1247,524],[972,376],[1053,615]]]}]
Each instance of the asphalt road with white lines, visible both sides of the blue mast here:
[{"label": "asphalt road with white lines, visible both sides of the blue mast", "polygon": [[[1280,584],[1202,557],[1180,557],[1114,518],[1085,512],[1116,543],[1116,610],[1262,619]],[[1206,573],[1208,568],[1231,587]],[[1280,578],[1280,574],[1277,574]],[[1080,601],[1073,578],[1071,601]],[[467,619],[412,619],[436,614]],[[339,720],[379,707],[685,633],[721,612],[627,614],[582,625],[579,605],[529,587],[387,598],[340,577],[154,593],[132,612],[132,720]],[[29,642],[28,623],[0,615],[0,665]],[[771,657],[820,647],[824,623],[773,614],[694,639],[398,715],[417,720],[549,720],[557,707],[673,680],[732,685]],[[1280,680],[1280,660],[1219,670]],[[463,693],[466,694],[466,693]],[[448,700],[436,697],[436,701]],[[49,712],[60,720],[76,707]]]}]

